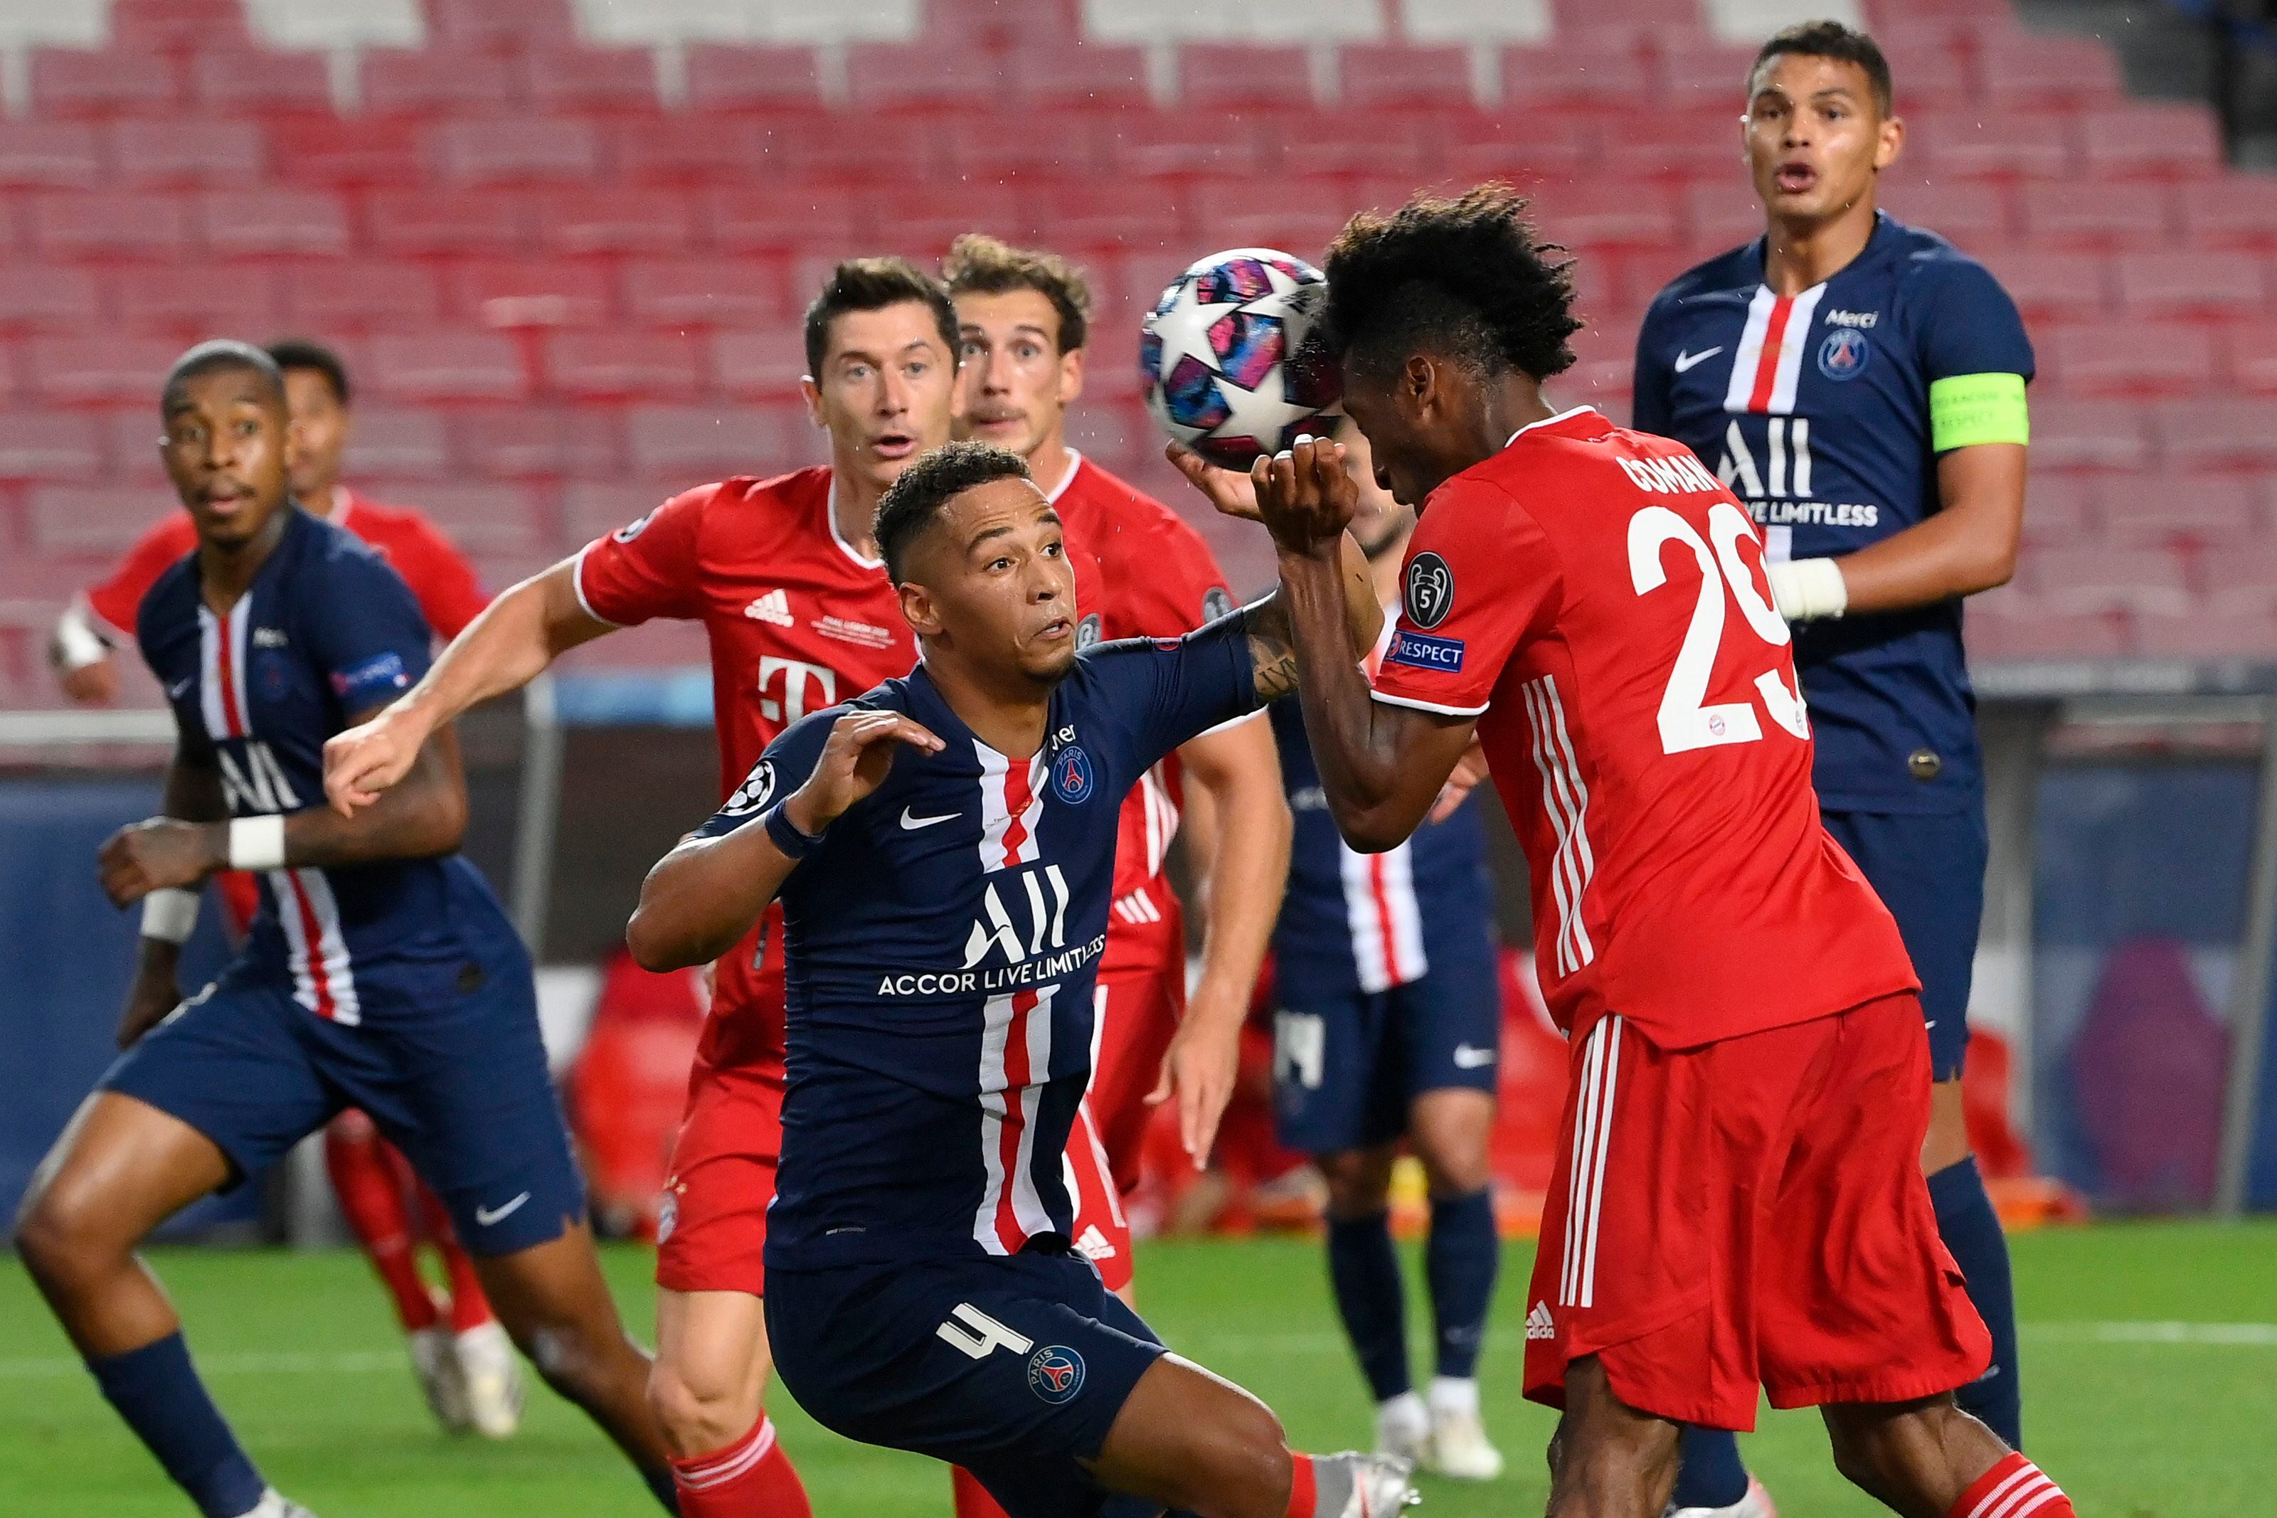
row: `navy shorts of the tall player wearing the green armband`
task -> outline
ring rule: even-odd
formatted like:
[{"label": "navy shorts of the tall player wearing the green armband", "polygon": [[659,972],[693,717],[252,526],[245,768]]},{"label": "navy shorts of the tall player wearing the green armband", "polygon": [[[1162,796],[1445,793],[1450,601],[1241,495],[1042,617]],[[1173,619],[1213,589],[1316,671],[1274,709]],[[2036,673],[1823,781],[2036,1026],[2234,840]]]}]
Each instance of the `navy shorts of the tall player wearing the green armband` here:
[{"label": "navy shorts of the tall player wearing the green armband", "polygon": [[1824,812],[1897,917],[1922,976],[1929,1079],[1956,1081],[1970,1051],[1970,974],[1986,915],[1986,812]]}]

